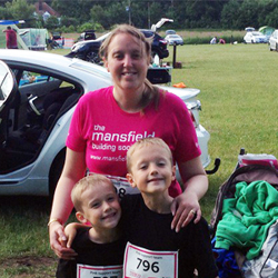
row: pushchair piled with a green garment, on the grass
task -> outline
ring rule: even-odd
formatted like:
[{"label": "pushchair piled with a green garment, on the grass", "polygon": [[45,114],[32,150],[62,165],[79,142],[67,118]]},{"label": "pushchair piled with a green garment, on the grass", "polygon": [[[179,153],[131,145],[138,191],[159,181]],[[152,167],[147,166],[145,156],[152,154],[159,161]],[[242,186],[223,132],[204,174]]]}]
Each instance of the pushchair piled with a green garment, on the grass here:
[{"label": "pushchair piled with a green garment, on the grass", "polygon": [[220,278],[278,277],[277,189],[277,159],[241,149],[210,221]]}]

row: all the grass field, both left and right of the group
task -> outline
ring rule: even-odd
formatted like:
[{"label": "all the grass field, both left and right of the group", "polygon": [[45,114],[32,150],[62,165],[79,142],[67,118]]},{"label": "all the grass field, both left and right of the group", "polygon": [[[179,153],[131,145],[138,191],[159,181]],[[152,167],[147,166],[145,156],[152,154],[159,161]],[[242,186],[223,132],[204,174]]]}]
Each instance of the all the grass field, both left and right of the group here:
[{"label": "all the grass field, both left and right of the group", "polygon": [[[165,61],[171,62],[172,47],[169,50]],[[182,46],[177,48],[177,61],[182,68],[172,70],[172,83],[182,81],[201,90],[200,122],[211,135],[209,153],[212,160],[221,158],[201,200],[209,220],[218,187],[232,172],[240,148],[278,157],[278,53],[267,44]],[[0,197],[1,278],[54,277],[49,212],[46,198]]]}]

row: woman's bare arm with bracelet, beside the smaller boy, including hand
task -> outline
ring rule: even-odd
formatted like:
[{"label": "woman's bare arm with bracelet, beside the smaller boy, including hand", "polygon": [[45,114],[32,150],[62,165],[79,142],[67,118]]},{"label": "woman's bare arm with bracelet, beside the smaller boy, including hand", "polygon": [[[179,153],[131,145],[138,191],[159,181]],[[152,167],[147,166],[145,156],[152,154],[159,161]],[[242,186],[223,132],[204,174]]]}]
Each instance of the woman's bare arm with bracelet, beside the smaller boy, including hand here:
[{"label": "woman's bare arm with bracelet, beside the smaller boy, including hand", "polygon": [[72,210],[70,198],[73,186],[86,172],[85,153],[67,148],[66,161],[58,181],[49,224],[49,239],[52,250],[58,257],[70,257],[75,251],[67,248],[67,237],[63,225]]}]

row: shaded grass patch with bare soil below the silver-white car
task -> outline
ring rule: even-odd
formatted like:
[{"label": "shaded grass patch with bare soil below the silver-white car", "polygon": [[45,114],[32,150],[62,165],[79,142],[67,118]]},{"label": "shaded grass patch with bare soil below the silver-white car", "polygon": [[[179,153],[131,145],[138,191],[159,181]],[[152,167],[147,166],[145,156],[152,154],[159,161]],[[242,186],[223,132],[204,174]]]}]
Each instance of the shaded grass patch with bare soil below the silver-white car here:
[{"label": "shaded grass patch with bare soil below the silver-white car", "polygon": [[49,198],[0,197],[1,278],[54,277],[57,257],[47,228],[50,208]]}]

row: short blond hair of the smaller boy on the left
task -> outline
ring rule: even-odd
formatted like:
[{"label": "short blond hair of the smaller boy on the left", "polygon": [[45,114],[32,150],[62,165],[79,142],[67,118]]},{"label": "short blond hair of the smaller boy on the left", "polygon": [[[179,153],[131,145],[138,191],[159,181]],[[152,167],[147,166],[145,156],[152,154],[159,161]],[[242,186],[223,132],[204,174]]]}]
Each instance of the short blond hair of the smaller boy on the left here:
[{"label": "short blond hair of the smaller boy on the left", "polygon": [[[90,187],[98,186],[99,183],[110,183],[113,187],[112,181],[103,175],[92,173],[82,179],[80,179],[71,190],[71,201],[77,211],[82,212],[82,192],[86,191]],[[101,189],[100,189],[101,190]]]}]

